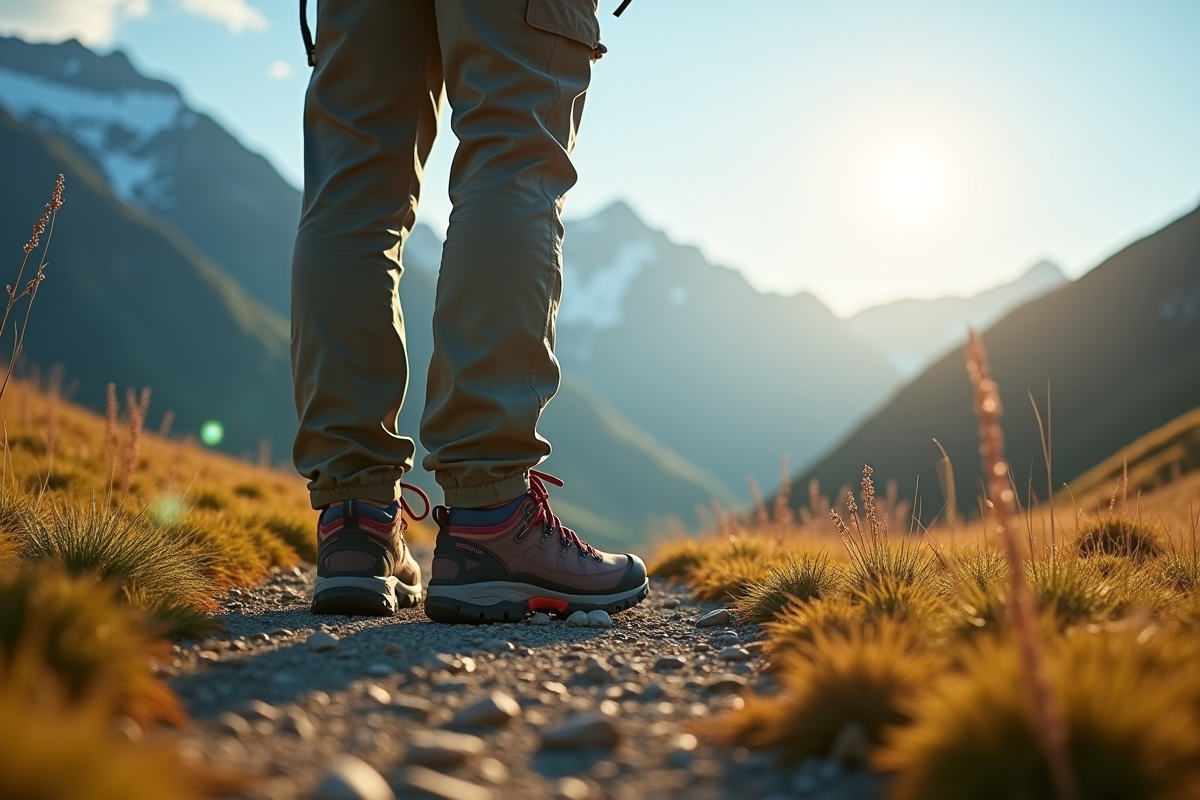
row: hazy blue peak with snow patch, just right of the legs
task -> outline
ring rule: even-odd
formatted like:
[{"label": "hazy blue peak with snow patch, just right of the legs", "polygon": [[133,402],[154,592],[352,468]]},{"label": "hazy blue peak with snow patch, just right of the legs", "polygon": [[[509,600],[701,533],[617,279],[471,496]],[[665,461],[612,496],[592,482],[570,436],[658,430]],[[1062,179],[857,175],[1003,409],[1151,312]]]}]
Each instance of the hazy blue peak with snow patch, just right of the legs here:
[{"label": "hazy blue peak with snow patch, just right of the legs", "polygon": [[900,383],[810,294],[756,291],[617,203],[568,222],[566,374],[746,497],[832,446]]}]

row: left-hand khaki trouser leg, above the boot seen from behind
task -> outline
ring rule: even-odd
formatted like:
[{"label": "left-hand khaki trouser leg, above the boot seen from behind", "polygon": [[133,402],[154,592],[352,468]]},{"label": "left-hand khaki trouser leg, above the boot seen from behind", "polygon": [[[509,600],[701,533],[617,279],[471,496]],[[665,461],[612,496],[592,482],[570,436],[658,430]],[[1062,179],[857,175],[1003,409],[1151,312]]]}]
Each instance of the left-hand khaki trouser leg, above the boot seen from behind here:
[{"label": "left-hand khaki trouser leg, above the boot seen from behind", "polygon": [[296,469],[313,507],[390,503],[413,465],[396,294],[442,103],[433,0],[320,0],[292,263]]}]

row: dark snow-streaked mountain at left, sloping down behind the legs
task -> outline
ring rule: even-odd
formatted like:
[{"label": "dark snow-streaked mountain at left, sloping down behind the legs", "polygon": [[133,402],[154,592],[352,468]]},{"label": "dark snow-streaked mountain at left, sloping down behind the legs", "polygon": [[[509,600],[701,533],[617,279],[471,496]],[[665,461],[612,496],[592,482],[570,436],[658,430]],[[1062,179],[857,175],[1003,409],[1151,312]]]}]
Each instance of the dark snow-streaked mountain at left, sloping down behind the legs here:
[{"label": "dark snow-streaked mountain at left, sloping down behind the legs", "polygon": [[[220,420],[227,451],[253,452],[265,439],[276,457],[287,453],[295,188],[169,84],[77,42],[0,38],[0,242],[24,242],[54,175],[67,178],[29,361],[64,365],[76,399],[92,408],[103,408],[110,380],[149,385],[151,425],[172,409],[175,431]],[[406,261],[425,269],[401,282],[413,365],[401,428],[413,434],[439,255],[440,242],[419,228]],[[570,380],[544,429],[557,443],[546,468],[568,482],[556,492],[560,513],[598,543],[635,542],[648,522],[695,525],[696,506],[730,500],[719,481]],[[413,477],[436,488],[430,475]]]}]

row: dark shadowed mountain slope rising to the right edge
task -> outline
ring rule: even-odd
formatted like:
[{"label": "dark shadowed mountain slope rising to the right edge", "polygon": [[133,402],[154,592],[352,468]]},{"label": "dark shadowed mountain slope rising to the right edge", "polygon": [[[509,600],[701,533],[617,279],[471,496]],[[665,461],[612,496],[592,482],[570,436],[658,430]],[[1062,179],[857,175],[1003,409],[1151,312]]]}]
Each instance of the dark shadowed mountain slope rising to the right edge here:
[{"label": "dark shadowed mountain slope rising to the right edge", "polygon": [[[1022,497],[1046,486],[1037,420],[1049,384],[1054,481],[1061,486],[1200,403],[1200,209],[1136,241],[1074,283],[1010,312],[984,333],[1004,404],[1007,455]],[[954,464],[960,505],[979,486],[977,426],[962,348],[905,386],[798,476],[826,491],[863,464],[901,493],[918,476],[925,509],[941,504],[932,439]],[[928,519],[926,519],[928,522]]]}]

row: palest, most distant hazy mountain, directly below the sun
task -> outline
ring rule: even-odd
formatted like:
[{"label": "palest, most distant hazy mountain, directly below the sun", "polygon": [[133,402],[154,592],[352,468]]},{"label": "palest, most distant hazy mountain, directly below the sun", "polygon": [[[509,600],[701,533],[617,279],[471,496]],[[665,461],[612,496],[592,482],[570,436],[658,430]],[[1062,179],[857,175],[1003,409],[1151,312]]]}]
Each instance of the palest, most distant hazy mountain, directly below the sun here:
[{"label": "palest, most distant hazy mountain, directly below the sun", "polygon": [[905,379],[966,341],[967,327],[985,330],[1024,302],[1067,283],[1057,265],[1039,261],[1010,283],[971,297],[896,300],[850,318],[864,342],[883,353]]}]

